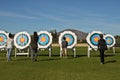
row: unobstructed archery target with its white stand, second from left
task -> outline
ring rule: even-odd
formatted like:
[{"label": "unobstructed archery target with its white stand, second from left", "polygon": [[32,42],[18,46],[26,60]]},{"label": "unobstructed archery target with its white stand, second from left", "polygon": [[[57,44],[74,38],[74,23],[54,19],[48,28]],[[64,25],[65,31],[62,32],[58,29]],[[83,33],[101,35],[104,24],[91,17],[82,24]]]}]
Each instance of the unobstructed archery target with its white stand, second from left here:
[{"label": "unobstructed archery target with its white stand, second from left", "polygon": [[17,55],[27,55],[29,57],[30,35],[27,32],[19,32],[14,37],[15,57]]}]

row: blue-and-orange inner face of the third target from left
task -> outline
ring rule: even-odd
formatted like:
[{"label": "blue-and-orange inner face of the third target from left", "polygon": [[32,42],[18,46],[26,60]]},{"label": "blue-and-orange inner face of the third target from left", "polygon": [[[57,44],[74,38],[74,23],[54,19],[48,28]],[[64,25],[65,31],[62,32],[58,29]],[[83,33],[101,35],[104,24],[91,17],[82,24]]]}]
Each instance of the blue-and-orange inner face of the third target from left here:
[{"label": "blue-and-orange inner face of the third target from left", "polygon": [[47,34],[43,33],[39,35],[38,44],[46,46],[50,42],[50,38]]}]

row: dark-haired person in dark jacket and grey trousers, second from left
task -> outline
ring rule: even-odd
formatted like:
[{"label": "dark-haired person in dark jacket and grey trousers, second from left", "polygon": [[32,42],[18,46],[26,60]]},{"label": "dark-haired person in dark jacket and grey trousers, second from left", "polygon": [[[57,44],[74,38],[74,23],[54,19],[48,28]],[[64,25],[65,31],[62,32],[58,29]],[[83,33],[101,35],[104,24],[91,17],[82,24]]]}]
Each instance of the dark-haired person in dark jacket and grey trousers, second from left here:
[{"label": "dark-haired person in dark jacket and grey trousers, second from left", "polygon": [[38,49],[38,35],[37,32],[33,33],[31,37],[31,60],[37,61],[37,49]]}]

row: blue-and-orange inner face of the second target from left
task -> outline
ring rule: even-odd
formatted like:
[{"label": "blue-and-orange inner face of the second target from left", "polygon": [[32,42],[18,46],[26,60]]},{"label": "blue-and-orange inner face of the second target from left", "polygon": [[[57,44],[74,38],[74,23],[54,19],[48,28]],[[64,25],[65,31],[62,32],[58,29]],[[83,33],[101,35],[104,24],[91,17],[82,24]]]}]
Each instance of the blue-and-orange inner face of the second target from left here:
[{"label": "blue-and-orange inner face of the second target from left", "polygon": [[28,36],[25,34],[18,35],[16,42],[19,46],[25,46],[28,43]]}]

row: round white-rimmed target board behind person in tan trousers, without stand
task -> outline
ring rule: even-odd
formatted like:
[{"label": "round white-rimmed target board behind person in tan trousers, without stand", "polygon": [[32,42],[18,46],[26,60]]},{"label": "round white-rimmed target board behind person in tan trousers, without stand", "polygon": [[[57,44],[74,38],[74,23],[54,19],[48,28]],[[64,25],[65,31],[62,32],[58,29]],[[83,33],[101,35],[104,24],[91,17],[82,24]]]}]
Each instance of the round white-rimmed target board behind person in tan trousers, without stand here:
[{"label": "round white-rimmed target board behind person in tan trousers, without stand", "polygon": [[68,42],[68,47],[67,48],[73,48],[76,43],[77,43],[77,36],[75,33],[71,31],[64,31],[63,33],[60,34],[59,36],[59,44],[61,45],[63,37],[66,38],[66,41]]}]

